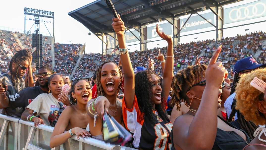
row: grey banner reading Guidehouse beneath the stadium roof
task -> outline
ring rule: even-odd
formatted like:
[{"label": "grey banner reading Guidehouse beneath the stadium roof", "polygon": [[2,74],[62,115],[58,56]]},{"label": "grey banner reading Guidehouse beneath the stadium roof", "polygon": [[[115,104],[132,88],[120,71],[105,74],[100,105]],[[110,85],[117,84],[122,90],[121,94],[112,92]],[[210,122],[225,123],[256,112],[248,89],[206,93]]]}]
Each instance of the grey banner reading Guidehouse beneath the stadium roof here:
[{"label": "grey banner reading Guidehouse beneath the stadium roof", "polygon": [[214,24],[214,20],[215,20],[214,14],[212,12],[206,13],[206,14],[201,14],[201,16],[204,17],[205,19],[207,19],[207,21],[205,19],[203,19],[202,17],[200,17],[199,15],[190,17],[187,22],[186,22],[186,20],[188,18],[180,19],[180,28],[186,22],[185,26],[182,28],[180,33],[187,32],[187,31],[193,31],[193,30],[197,30],[197,29],[203,29],[203,28],[207,28],[207,27],[213,27],[210,23],[215,25]]}]

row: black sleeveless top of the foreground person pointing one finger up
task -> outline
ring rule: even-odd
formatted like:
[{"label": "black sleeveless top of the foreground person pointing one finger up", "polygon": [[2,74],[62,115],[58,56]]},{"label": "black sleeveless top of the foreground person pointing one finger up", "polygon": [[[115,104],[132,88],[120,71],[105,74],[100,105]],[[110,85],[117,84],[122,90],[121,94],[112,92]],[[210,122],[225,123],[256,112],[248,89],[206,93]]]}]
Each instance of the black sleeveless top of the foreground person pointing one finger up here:
[{"label": "black sleeveless top of the foreground person pointing one finger up", "polygon": [[[226,124],[228,124],[230,127],[238,129],[231,123],[227,122],[222,117],[220,116],[218,117],[221,120],[223,120]],[[239,130],[242,131],[246,135],[247,141],[245,141],[235,131],[224,131],[222,129],[217,128],[217,134],[215,137],[212,150],[242,150],[246,145],[248,145],[248,143],[250,143],[251,140],[245,131],[241,129]],[[175,150],[174,142],[173,142],[173,130],[171,131],[170,135],[171,135],[171,143],[172,143],[171,150]]]}]

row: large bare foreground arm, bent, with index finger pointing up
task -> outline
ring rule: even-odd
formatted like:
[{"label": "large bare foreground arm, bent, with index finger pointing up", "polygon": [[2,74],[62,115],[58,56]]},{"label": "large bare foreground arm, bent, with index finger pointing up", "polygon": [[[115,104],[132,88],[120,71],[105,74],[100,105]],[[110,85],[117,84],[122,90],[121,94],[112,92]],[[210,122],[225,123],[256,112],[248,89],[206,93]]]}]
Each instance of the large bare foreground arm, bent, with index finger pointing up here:
[{"label": "large bare foreground arm, bent, with index finger pointing up", "polygon": [[[221,62],[216,62],[221,51],[219,47],[210,59],[205,78],[206,86],[197,113],[182,115],[174,122],[174,143],[182,149],[212,149],[217,133],[217,101],[221,83],[228,72]],[[182,125],[178,122],[182,120]],[[204,139],[202,141],[202,139]],[[203,144],[204,143],[204,144]]]}]

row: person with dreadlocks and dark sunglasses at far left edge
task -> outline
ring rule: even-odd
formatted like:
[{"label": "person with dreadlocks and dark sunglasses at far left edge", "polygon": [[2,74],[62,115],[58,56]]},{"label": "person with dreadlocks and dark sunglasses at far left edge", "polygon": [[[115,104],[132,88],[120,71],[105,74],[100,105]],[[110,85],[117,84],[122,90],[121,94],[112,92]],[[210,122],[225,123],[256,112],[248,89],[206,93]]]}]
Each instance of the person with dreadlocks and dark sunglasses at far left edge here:
[{"label": "person with dreadlocks and dark sunglasses at far left edge", "polygon": [[[10,101],[15,101],[19,91],[25,88],[24,79],[26,69],[31,70],[32,56],[27,50],[20,50],[11,58],[9,63],[9,72],[0,76],[0,83],[5,85],[5,93],[0,95],[0,101],[9,98]],[[28,73],[31,73],[28,71]],[[2,89],[2,88],[1,88]],[[3,108],[3,107],[2,107]],[[23,108],[7,107],[0,110],[0,114],[12,117],[21,117]]]}]

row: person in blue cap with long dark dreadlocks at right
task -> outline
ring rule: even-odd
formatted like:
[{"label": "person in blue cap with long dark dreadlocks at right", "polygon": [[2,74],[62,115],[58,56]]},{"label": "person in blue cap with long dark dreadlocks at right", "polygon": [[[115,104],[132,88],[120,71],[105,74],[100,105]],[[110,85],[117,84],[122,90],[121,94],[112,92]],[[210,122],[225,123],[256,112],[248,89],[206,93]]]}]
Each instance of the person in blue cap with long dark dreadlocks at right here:
[{"label": "person in blue cap with long dark dreadlocks at right", "polygon": [[255,132],[258,126],[255,125],[252,121],[246,121],[242,113],[240,113],[239,110],[235,108],[235,87],[237,86],[237,83],[240,79],[240,75],[249,74],[253,70],[264,67],[266,67],[266,64],[258,64],[256,60],[251,56],[238,60],[234,65],[235,76],[233,80],[232,90],[230,92],[231,95],[226,99],[224,104],[227,116],[229,116],[227,121],[231,122],[239,129],[244,130],[246,133],[248,133],[251,139],[254,138],[252,133]]}]

